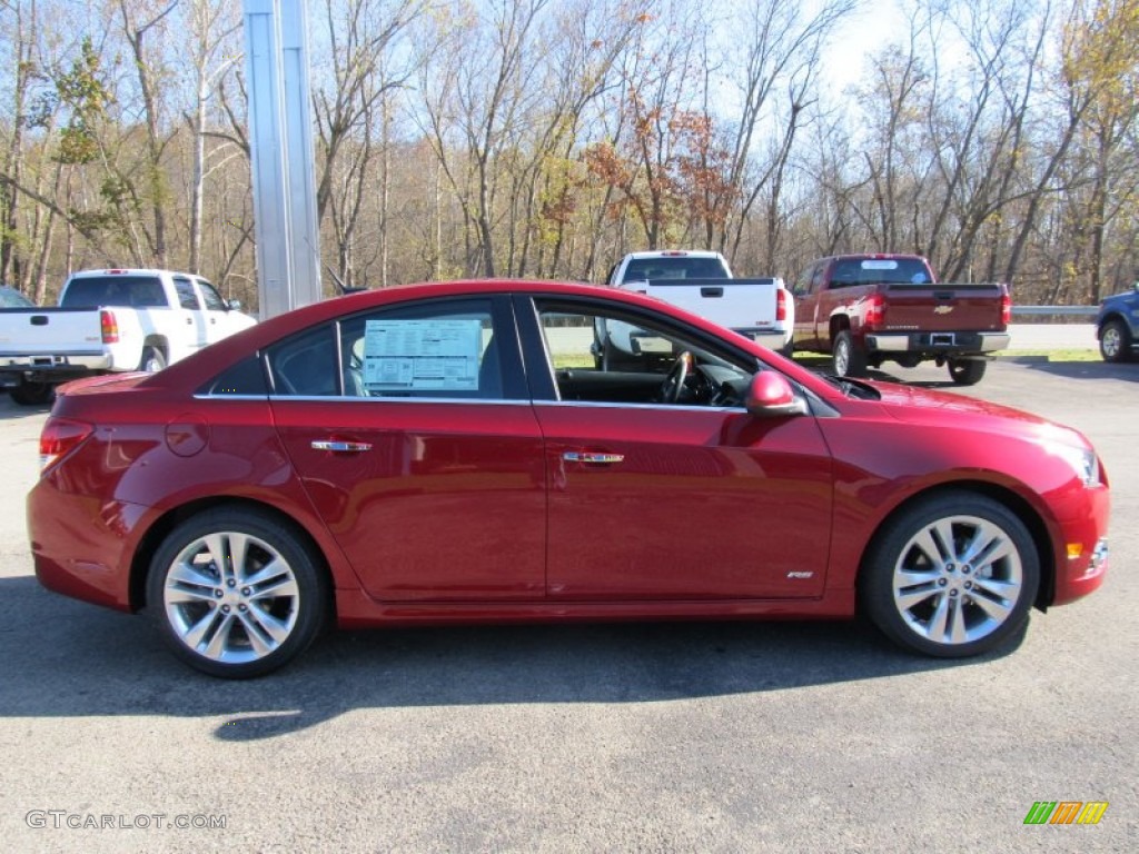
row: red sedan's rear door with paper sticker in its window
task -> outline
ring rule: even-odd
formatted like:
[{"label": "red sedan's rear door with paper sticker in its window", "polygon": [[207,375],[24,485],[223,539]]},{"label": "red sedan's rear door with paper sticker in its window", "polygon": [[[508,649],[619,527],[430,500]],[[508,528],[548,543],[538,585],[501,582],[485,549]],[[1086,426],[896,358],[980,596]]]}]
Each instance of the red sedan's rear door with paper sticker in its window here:
[{"label": "red sedan's rear door with paper sticker in its window", "polygon": [[269,354],[278,433],[377,599],[546,592],[542,437],[491,315],[490,299],[377,312]]}]

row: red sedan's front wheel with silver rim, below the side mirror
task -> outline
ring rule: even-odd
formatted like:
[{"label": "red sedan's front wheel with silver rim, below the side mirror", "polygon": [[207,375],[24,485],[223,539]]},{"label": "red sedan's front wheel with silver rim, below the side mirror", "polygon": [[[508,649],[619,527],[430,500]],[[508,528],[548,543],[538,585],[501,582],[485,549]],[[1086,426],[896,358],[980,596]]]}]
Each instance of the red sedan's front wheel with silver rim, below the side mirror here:
[{"label": "red sedan's front wheel with silver rim, below the side mirror", "polygon": [[921,499],[886,523],[863,560],[859,601],[898,644],[964,658],[1022,631],[1039,585],[1036,548],[1016,514],[953,491]]}]

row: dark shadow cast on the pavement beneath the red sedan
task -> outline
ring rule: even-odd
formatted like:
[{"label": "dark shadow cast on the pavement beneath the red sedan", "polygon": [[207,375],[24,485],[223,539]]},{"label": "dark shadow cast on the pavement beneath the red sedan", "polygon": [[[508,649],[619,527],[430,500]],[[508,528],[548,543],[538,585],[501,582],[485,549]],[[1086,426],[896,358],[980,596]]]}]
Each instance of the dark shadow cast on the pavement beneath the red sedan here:
[{"label": "dark shadow cast on the pavement beneath the red sedan", "polygon": [[622,623],[329,632],[260,680],[179,663],[145,616],[0,578],[0,717],[222,717],[214,737],[297,732],[357,708],[654,703],[983,664],[908,655],[860,622]]}]

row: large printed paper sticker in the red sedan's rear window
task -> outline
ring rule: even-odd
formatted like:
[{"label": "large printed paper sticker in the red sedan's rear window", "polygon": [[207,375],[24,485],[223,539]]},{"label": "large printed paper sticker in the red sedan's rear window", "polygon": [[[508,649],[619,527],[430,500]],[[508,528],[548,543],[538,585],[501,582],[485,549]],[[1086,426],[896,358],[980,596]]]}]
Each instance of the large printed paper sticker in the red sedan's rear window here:
[{"label": "large printed paper sticker in the red sedan's rear window", "polygon": [[369,320],[363,384],[369,392],[477,392],[482,322]]}]

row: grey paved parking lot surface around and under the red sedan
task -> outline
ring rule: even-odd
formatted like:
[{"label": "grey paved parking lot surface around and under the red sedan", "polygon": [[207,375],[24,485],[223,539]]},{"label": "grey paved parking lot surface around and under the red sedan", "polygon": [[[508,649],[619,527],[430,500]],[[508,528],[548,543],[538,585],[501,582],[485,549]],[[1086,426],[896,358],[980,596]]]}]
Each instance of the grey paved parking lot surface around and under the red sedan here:
[{"label": "grey paved parking lot surface around and under the red sedan", "polygon": [[[212,680],[145,617],[35,582],[46,411],[0,395],[3,847],[1134,851],[1139,366],[890,372],[1076,427],[1105,461],[1109,576],[1015,650],[916,658],[858,623],[400,630]],[[1108,807],[1025,826],[1040,800]]]}]

